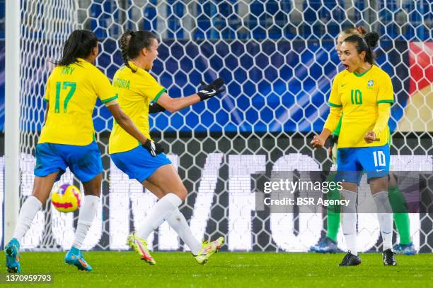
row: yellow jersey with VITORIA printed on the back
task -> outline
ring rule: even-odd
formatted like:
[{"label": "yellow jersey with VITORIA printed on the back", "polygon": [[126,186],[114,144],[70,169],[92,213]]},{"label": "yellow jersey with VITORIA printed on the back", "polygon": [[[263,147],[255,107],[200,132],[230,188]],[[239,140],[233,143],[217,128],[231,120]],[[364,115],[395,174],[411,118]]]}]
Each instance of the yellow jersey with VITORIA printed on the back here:
[{"label": "yellow jersey with VITORIA printed on the back", "polygon": [[[149,103],[158,101],[158,98],[166,92],[166,88],[156,82],[148,71],[135,66],[129,61],[129,66],[122,66],[112,79],[112,86],[119,95],[120,108],[134,122],[135,126],[143,135],[151,139],[149,133]],[[137,139],[130,136],[115,121],[112,124],[110,140],[108,141],[108,152],[110,154],[125,152],[141,145]]]}]

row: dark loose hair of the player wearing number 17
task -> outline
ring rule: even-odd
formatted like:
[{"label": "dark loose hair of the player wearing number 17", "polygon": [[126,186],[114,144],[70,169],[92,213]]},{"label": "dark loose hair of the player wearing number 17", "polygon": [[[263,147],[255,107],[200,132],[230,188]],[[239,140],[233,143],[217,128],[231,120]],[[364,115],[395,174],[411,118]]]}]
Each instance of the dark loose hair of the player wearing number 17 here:
[{"label": "dark loose hair of the player wearing number 17", "polygon": [[77,58],[88,57],[97,45],[98,38],[95,33],[89,30],[75,30],[64,42],[62,59],[55,61],[54,64],[57,66],[73,64]]}]

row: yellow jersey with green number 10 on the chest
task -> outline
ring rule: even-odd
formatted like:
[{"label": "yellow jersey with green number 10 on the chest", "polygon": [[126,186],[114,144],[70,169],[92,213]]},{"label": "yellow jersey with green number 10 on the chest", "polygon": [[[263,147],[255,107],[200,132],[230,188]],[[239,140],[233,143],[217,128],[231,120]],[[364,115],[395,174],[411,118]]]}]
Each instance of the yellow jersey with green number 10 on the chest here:
[{"label": "yellow jersey with green number 10 on the chest", "polygon": [[[379,103],[393,103],[393,85],[388,74],[376,65],[364,73],[341,71],[335,77],[328,104],[342,107],[338,148],[382,146],[388,143],[389,128],[380,141],[366,143],[366,132],[373,130],[379,116]],[[324,128],[327,127],[325,123]],[[332,131],[332,128],[328,128]]]}]

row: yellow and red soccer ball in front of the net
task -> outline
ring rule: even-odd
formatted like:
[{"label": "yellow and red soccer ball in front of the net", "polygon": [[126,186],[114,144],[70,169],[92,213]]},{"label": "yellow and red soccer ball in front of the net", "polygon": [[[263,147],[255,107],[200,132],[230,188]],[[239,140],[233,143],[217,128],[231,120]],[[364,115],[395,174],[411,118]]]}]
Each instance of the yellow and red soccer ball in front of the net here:
[{"label": "yellow and red soccer ball in front of the net", "polygon": [[51,196],[51,203],[57,211],[74,212],[80,208],[81,193],[74,185],[63,184]]}]

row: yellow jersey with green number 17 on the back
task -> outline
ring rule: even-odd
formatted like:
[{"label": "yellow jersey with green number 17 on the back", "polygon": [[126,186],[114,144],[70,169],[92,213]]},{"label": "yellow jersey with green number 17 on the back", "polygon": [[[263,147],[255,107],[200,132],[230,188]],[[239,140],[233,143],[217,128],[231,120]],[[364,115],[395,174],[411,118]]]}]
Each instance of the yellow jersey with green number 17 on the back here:
[{"label": "yellow jersey with green number 17 on the back", "polygon": [[103,103],[117,98],[110,80],[85,61],[54,68],[44,100],[50,103],[38,143],[88,145],[94,140],[92,113],[97,97]]}]

